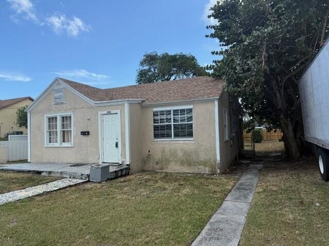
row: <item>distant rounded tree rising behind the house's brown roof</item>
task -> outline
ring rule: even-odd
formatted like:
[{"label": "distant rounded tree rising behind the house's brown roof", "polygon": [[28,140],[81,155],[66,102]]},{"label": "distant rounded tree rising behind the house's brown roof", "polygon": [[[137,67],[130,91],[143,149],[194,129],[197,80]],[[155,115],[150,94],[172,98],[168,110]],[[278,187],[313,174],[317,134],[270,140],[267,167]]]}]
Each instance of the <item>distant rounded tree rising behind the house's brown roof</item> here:
[{"label": "distant rounded tree rising behind the house's brown roof", "polygon": [[206,70],[199,66],[191,54],[146,53],[139,66],[137,84],[207,75]]}]

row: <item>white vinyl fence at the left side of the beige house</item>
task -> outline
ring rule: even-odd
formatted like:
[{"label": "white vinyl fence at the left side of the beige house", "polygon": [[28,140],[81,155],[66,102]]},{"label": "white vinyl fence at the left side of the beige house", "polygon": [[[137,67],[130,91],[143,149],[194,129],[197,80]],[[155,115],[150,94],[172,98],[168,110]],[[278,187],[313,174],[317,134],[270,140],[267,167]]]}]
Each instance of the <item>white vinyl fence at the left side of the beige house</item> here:
[{"label": "white vinyl fence at the left side of the beige house", "polygon": [[[0,141],[0,147],[7,147],[9,161],[27,159],[27,135],[9,135],[9,141]],[[3,153],[4,154],[4,153]],[[4,159],[2,156],[1,159]]]}]

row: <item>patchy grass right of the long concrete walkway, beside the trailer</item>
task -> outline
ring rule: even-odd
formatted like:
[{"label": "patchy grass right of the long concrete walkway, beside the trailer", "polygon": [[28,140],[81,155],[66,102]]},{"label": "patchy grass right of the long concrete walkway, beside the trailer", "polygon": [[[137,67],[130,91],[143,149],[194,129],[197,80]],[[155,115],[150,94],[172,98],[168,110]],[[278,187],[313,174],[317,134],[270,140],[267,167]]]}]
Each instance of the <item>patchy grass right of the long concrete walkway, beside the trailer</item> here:
[{"label": "patchy grass right of the long concrete walkway, beside the trailer", "polygon": [[313,158],[264,164],[239,245],[327,245],[328,189]]}]

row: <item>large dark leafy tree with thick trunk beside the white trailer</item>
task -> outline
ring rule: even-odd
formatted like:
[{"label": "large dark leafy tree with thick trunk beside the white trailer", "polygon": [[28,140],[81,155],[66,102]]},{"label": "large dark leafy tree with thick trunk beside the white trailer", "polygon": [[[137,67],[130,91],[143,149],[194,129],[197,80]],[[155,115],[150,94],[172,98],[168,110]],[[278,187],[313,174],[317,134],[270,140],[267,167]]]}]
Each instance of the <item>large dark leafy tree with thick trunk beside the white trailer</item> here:
[{"label": "large dark leafy tree with thick trunk beside the white trailer", "polygon": [[283,131],[286,153],[304,150],[298,83],[328,35],[328,0],[222,0],[208,35],[223,46],[214,76],[241,98],[248,114]]}]

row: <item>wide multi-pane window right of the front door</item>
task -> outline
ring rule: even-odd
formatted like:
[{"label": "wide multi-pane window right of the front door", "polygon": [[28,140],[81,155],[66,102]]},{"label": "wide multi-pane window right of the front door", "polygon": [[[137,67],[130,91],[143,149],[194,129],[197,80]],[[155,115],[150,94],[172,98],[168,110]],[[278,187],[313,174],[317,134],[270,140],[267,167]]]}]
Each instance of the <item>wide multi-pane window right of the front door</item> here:
[{"label": "wide multi-pane window right of the front door", "polygon": [[154,139],[193,139],[193,108],[153,110]]}]

